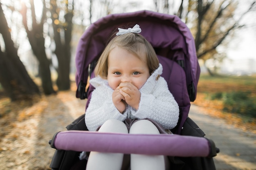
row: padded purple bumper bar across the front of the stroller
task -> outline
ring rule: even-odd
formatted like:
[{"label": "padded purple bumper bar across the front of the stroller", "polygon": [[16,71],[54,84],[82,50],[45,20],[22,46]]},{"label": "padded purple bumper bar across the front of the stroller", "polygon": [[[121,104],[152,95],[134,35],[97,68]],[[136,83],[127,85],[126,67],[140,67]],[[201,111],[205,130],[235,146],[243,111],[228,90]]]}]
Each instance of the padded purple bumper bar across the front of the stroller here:
[{"label": "padded purple bumper bar across the front of the stroller", "polygon": [[52,148],[78,152],[97,151],[177,157],[216,156],[213,141],[204,137],[181,135],[134,135],[70,130],[56,133],[49,142]]}]

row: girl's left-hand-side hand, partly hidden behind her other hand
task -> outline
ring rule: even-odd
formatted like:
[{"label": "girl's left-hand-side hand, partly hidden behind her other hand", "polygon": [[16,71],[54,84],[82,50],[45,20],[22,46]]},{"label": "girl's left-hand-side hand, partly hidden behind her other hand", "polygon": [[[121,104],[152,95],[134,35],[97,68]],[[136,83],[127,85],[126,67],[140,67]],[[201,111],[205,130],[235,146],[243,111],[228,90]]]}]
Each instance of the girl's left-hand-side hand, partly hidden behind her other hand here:
[{"label": "girl's left-hand-side hand, partly hidden behind her other hand", "polygon": [[119,87],[112,93],[112,101],[120,113],[124,113],[126,109],[126,102],[124,96],[119,92]]}]

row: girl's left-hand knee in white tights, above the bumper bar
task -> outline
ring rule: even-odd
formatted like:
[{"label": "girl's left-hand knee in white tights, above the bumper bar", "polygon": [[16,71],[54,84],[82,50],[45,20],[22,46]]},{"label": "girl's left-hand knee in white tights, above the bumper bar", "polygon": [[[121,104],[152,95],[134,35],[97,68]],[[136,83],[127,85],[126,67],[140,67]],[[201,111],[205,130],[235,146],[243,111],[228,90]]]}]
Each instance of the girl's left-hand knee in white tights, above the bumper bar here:
[{"label": "girl's left-hand knee in white tights, above the bumper bar", "polygon": [[109,119],[99,128],[99,132],[128,133],[128,130],[124,122],[117,119]]}]

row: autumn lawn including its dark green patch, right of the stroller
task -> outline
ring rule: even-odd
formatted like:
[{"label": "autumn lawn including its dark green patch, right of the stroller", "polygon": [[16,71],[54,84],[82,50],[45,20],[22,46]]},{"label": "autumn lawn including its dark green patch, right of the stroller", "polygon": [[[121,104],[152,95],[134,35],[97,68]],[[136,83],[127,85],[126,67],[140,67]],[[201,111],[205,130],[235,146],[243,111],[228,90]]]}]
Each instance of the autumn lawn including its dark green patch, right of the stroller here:
[{"label": "autumn lawn including its dark green patch, right of the stroller", "polygon": [[209,115],[256,131],[256,75],[201,75],[194,104]]}]

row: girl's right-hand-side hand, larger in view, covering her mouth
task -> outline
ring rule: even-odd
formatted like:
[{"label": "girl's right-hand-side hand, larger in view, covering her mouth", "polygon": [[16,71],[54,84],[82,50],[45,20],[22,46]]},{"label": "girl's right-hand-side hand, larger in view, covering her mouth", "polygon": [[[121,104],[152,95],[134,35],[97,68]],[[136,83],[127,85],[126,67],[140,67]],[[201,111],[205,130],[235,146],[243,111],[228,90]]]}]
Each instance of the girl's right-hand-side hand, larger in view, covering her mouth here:
[{"label": "girl's right-hand-side hand, larger in view, covering her mouth", "polygon": [[139,89],[130,82],[124,82],[120,83],[119,91],[125,102],[138,110],[141,95]]}]

